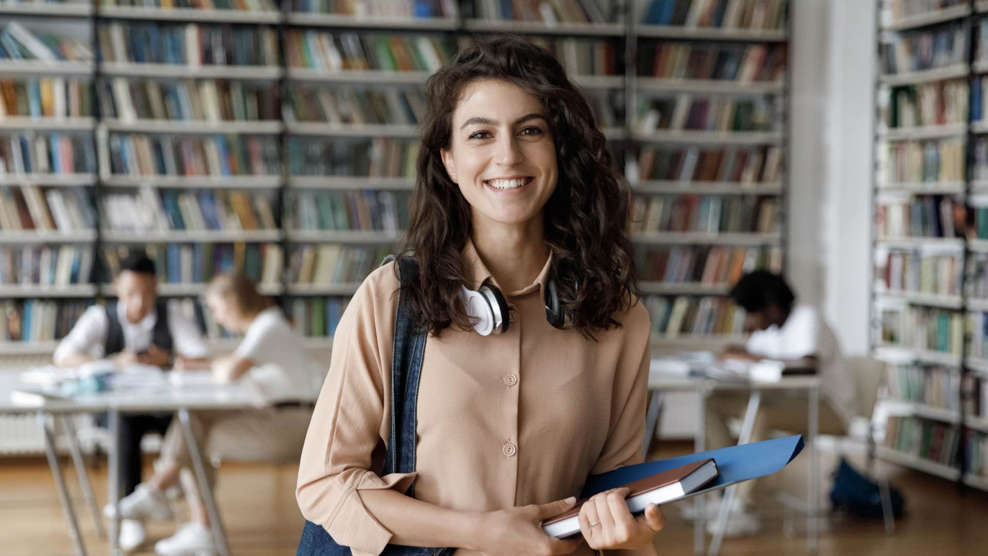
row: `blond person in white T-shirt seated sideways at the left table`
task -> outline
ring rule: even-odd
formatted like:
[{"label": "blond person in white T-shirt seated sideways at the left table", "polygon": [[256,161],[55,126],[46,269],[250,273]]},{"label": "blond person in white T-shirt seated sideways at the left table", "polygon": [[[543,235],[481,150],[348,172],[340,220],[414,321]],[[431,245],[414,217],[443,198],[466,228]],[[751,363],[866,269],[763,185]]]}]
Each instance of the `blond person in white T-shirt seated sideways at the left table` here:
[{"label": "blond person in white T-shirt seated sideways at the left table", "polygon": [[[292,332],[277,307],[268,307],[254,284],[238,275],[221,275],[206,289],[206,306],[215,321],[243,341],[226,357],[213,361],[217,382],[245,381],[257,388],[272,407],[237,412],[197,412],[191,415],[203,454],[218,453],[235,459],[261,456],[295,461],[301,454],[305,431],[312,415],[309,402],[316,393],[313,365],[301,338]],[[179,481],[183,467],[192,460],[182,429],[173,423],[165,434],[155,473],[145,485],[121,501],[121,514],[131,519],[155,518],[167,507],[164,491]],[[206,465],[208,481],[214,484]],[[193,494],[193,493],[189,493]],[[189,500],[192,522],[181,525],[171,537],[155,545],[158,554],[186,554],[214,549],[206,507],[198,497]]]}]

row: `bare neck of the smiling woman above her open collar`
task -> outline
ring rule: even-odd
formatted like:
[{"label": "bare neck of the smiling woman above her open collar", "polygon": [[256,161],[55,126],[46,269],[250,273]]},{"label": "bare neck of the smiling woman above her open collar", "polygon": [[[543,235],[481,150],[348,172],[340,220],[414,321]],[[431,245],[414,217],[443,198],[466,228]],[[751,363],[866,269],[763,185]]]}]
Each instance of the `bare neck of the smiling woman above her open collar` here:
[{"label": "bare neck of the smiling woman above her open collar", "polygon": [[516,226],[485,219],[474,219],[473,223],[473,246],[502,291],[514,292],[535,282],[549,256],[549,247],[542,239],[541,215]]}]

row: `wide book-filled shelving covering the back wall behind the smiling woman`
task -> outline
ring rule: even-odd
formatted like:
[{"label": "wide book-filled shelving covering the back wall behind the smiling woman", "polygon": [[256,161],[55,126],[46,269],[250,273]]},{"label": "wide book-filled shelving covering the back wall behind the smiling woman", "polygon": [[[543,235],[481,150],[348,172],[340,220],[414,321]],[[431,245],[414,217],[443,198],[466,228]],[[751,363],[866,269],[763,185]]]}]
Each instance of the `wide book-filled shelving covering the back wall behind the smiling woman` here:
[{"label": "wide book-filled shelving covering the back wall behind the smiling woman", "polygon": [[[66,283],[62,269],[57,286],[0,285],[11,299],[110,297],[113,260],[146,245],[160,257],[163,297],[193,311],[210,272],[246,264],[316,336],[306,345],[328,349],[333,320],[407,226],[425,80],[468,37],[504,31],[548,48],[587,93],[642,218],[658,210],[656,199],[695,206],[689,226],[656,216],[658,226],[632,233],[639,266],[650,261],[641,275],[646,302],[668,312],[653,315],[663,321],[657,353],[742,343],[743,315],[726,302],[730,284],[744,271],[783,269],[785,0],[728,0],[719,14],[666,0],[563,0],[537,14],[506,13],[489,0],[343,4],[356,7],[351,13],[321,12],[308,0],[262,0],[249,10],[155,4],[0,0],[0,14],[33,32],[79,30],[93,52],[0,59],[0,83],[78,80],[89,84],[91,107],[77,117],[0,117],[0,156],[5,134],[74,134],[93,150],[85,171],[0,171],[0,187],[83,192],[94,220],[81,232],[0,226],[0,252],[50,244],[88,248],[93,258],[85,279]],[[661,13],[672,4],[682,13]],[[170,46],[149,47],[163,43]],[[708,67],[716,55],[733,69]],[[678,121],[650,115],[667,107]],[[313,214],[309,202],[324,205]],[[354,214],[337,215],[333,203]],[[237,226],[229,213],[257,226]],[[268,213],[274,224],[262,225]],[[666,276],[673,256],[678,272]],[[0,354],[51,348],[49,340],[0,342]]]}]

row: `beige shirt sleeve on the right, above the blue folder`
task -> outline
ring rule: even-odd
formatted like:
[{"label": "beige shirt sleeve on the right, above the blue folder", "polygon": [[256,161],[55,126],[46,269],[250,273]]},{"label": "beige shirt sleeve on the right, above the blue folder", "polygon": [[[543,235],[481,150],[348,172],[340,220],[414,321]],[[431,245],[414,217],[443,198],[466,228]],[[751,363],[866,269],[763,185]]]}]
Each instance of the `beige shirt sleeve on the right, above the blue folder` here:
[{"label": "beige shirt sleeve on the right, above the blue folder", "polygon": [[614,471],[618,467],[641,463],[645,437],[645,410],[648,402],[650,357],[650,323],[640,304],[628,310],[622,320],[625,341],[615,372],[612,391],[611,430],[594,464],[592,474]]}]

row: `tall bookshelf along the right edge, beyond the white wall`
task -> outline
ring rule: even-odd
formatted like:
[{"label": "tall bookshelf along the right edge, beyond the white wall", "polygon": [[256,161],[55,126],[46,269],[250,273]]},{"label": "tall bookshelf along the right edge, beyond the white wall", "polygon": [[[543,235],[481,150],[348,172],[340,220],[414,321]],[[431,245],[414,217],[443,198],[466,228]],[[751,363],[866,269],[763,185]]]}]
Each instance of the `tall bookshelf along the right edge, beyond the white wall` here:
[{"label": "tall bookshelf along the right edge, beyond the white wall", "polygon": [[988,490],[977,454],[988,422],[988,20],[983,2],[876,5],[871,345],[889,363],[881,396],[893,416],[878,455]]}]

